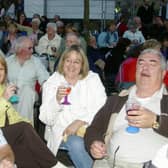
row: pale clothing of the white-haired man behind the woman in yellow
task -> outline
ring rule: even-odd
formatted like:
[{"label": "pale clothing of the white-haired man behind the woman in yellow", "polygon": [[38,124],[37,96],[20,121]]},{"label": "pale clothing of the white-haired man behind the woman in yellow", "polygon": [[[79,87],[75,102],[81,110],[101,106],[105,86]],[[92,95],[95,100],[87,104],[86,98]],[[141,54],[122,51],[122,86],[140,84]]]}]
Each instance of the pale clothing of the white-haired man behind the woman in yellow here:
[{"label": "pale clothing of the white-haired man behind the woman in yellow", "polygon": [[20,65],[16,55],[7,58],[8,80],[18,87],[19,103],[14,104],[15,109],[33,123],[34,102],[36,98],[36,81],[42,84],[48,79],[49,73],[39,58],[32,56]]}]

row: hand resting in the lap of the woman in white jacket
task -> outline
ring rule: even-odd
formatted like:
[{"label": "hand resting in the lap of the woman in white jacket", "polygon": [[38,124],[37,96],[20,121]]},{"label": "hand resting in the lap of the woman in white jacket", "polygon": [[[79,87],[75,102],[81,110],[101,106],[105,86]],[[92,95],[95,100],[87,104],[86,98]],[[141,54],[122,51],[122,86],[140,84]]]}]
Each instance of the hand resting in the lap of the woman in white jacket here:
[{"label": "hand resting in the lap of the woman in white jacket", "polygon": [[63,135],[74,135],[78,131],[78,129],[82,126],[85,125],[86,122],[81,121],[81,120],[75,120],[73,121],[65,130]]}]

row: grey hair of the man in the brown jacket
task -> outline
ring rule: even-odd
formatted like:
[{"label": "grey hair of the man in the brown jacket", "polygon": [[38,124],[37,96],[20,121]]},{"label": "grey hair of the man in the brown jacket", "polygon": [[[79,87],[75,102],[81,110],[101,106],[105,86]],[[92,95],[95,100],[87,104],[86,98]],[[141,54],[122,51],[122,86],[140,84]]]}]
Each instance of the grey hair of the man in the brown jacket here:
[{"label": "grey hair of the man in the brown jacket", "polygon": [[144,55],[144,54],[153,54],[153,55],[156,55],[157,57],[160,58],[161,68],[162,68],[163,70],[166,70],[166,69],[167,69],[166,58],[163,56],[163,54],[162,54],[160,51],[155,50],[155,49],[151,49],[151,48],[150,48],[150,49],[145,49],[145,50],[143,50],[143,51],[141,52],[141,54],[139,55],[139,57],[142,56],[142,55]]}]

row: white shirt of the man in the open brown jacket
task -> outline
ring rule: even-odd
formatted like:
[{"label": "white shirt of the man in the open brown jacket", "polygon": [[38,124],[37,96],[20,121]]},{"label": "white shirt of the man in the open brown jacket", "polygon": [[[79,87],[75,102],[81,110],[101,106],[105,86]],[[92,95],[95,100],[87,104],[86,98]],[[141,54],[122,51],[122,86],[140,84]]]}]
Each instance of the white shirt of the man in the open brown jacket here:
[{"label": "white shirt of the man in the open brown jacket", "polygon": [[[141,105],[156,114],[160,114],[160,100],[163,87],[153,96],[140,99],[136,97],[136,86],[130,91],[129,98],[134,97]],[[162,145],[168,143],[168,139],[155,133],[152,128],[140,128],[135,134],[128,133],[126,127],[128,122],[125,119],[125,106],[121,109],[114,123],[114,134],[111,138],[112,153],[120,146],[117,158],[127,162],[143,163],[151,160]]]}]

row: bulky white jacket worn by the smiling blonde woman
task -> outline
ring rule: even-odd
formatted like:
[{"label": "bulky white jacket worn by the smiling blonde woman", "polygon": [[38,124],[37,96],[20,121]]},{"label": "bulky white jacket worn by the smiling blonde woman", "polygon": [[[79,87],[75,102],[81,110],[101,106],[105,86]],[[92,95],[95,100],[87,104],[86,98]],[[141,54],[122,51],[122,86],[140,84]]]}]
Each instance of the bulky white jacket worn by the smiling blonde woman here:
[{"label": "bulky white jacket worn by the smiling blonde woman", "polygon": [[62,141],[65,128],[75,120],[90,124],[98,110],[106,101],[105,88],[96,73],[72,86],[68,95],[71,105],[60,105],[56,101],[56,92],[65,78],[55,72],[43,85],[40,120],[46,124],[45,138],[47,145],[56,155]]}]

